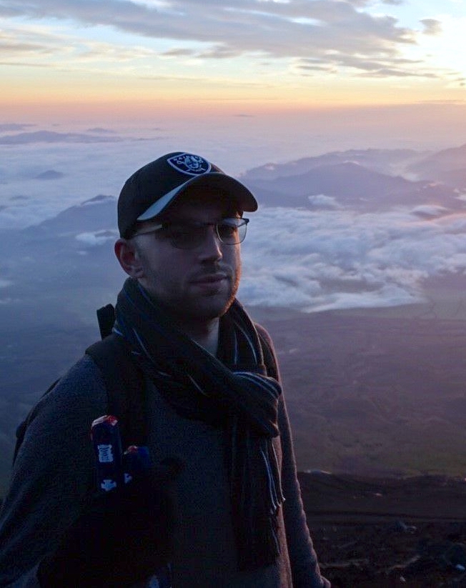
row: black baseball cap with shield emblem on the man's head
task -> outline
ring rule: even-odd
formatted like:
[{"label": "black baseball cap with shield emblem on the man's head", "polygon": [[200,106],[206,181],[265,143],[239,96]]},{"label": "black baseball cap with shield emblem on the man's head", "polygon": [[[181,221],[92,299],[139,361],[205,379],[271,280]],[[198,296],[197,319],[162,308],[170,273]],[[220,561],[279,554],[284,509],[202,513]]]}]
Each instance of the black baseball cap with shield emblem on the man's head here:
[{"label": "black baseball cap with shield emblem on the man's head", "polygon": [[190,186],[218,188],[221,197],[236,201],[238,211],[257,210],[257,201],[246,186],[207,159],[175,151],[151,161],[127,179],[118,199],[120,236],[129,239],[137,221],[158,216]]}]

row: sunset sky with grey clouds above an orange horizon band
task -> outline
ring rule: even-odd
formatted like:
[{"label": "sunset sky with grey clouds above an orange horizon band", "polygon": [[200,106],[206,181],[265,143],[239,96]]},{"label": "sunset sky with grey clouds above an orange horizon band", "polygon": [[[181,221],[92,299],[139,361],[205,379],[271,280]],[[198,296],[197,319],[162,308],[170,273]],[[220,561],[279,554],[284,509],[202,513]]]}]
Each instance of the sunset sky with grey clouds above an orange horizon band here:
[{"label": "sunset sky with grey clouds above an orange horizon band", "polygon": [[0,122],[364,125],[398,106],[402,126],[415,104],[454,128],[465,30],[466,0],[0,0]]}]

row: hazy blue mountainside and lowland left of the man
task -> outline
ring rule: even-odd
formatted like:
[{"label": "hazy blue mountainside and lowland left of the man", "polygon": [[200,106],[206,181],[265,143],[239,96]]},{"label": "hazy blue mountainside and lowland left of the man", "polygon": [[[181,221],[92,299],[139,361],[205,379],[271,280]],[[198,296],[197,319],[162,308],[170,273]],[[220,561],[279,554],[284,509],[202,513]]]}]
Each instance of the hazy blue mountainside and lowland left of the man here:
[{"label": "hazy blue mountainside and lowland left of the man", "polygon": [[31,404],[99,338],[96,309],[124,273],[117,199],[96,196],[21,231],[0,231],[0,496],[14,431]]}]

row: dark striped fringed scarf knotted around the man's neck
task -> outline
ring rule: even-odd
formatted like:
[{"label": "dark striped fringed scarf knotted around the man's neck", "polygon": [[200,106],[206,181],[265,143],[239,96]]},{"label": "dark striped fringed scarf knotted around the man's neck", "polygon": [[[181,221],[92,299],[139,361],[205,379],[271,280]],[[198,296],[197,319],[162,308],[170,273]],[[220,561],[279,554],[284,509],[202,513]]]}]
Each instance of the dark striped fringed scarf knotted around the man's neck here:
[{"label": "dark striped fringed scarf knotted around the man's neck", "polygon": [[239,568],[272,564],[284,500],[272,445],[281,388],[267,377],[251,319],[235,300],[220,320],[217,359],[174,327],[134,279],[119,293],[116,314],[114,331],[167,402],[183,417],[224,429]]}]

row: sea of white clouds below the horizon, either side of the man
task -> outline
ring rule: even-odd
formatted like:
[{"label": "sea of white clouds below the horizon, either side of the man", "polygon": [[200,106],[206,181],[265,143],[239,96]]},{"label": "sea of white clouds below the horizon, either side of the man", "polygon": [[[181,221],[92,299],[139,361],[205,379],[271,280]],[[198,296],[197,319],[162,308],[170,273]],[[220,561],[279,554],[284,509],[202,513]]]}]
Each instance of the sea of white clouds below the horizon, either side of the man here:
[{"label": "sea of white clouds below the horizon, either side of the man", "polygon": [[[162,143],[158,154],[173,149]],[[117,196],[154,151],[147,141],[118,137],[100,144],[0,146],[0,229],[37,224],[97,194]],[[215,153],[207,156],[216,161]],[[40,179],[46,171],[59,176]],[[465,272],[464,214],[439,216],[425,207],[357,214],[324,194],[314,200],[332,206],[262,206],[250,215],[239,291],[244,303],[304,312],[391,307],[421,302],[422,281],[430,276]],[[77,238],[86,251],[113,239],[105,233]],[[0,274],[0,287],[5,284]]]}]

